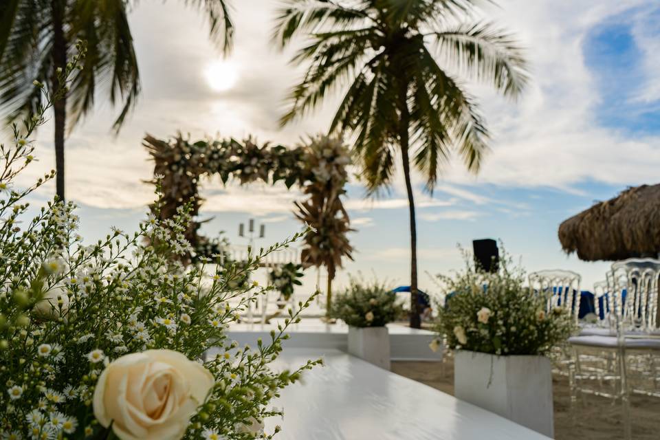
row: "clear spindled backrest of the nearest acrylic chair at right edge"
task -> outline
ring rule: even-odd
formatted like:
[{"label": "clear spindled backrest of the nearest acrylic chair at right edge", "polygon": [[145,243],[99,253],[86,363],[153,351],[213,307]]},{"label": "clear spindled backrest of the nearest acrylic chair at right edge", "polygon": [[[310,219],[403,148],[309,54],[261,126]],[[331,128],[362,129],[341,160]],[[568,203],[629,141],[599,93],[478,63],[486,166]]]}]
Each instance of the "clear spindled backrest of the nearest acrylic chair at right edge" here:
[{"label": "clear spindled backrest of the nearest acrylic chair at right edge", "polygon": [[607,283],[608,292],[614,295],[617,329],[657,329],[659,276],[657,259],[628,259],[612,264]]}]

